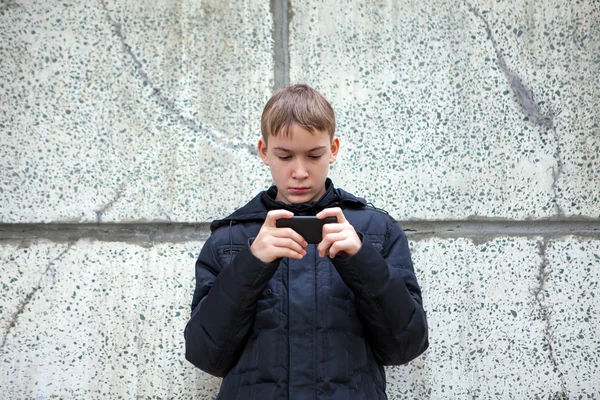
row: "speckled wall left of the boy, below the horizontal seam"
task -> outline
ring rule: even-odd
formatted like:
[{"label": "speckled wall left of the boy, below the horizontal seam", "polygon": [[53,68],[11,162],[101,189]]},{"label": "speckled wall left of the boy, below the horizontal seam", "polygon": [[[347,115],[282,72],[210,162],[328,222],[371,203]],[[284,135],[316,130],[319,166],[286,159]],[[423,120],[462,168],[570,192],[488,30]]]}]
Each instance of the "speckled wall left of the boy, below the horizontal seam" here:
[{"label": "speckled wall left of the boy, below the horizontal seam", "polygon": [[212,398],[220,380],[184,359],[200,247],[2,246],[0,397]]}]

